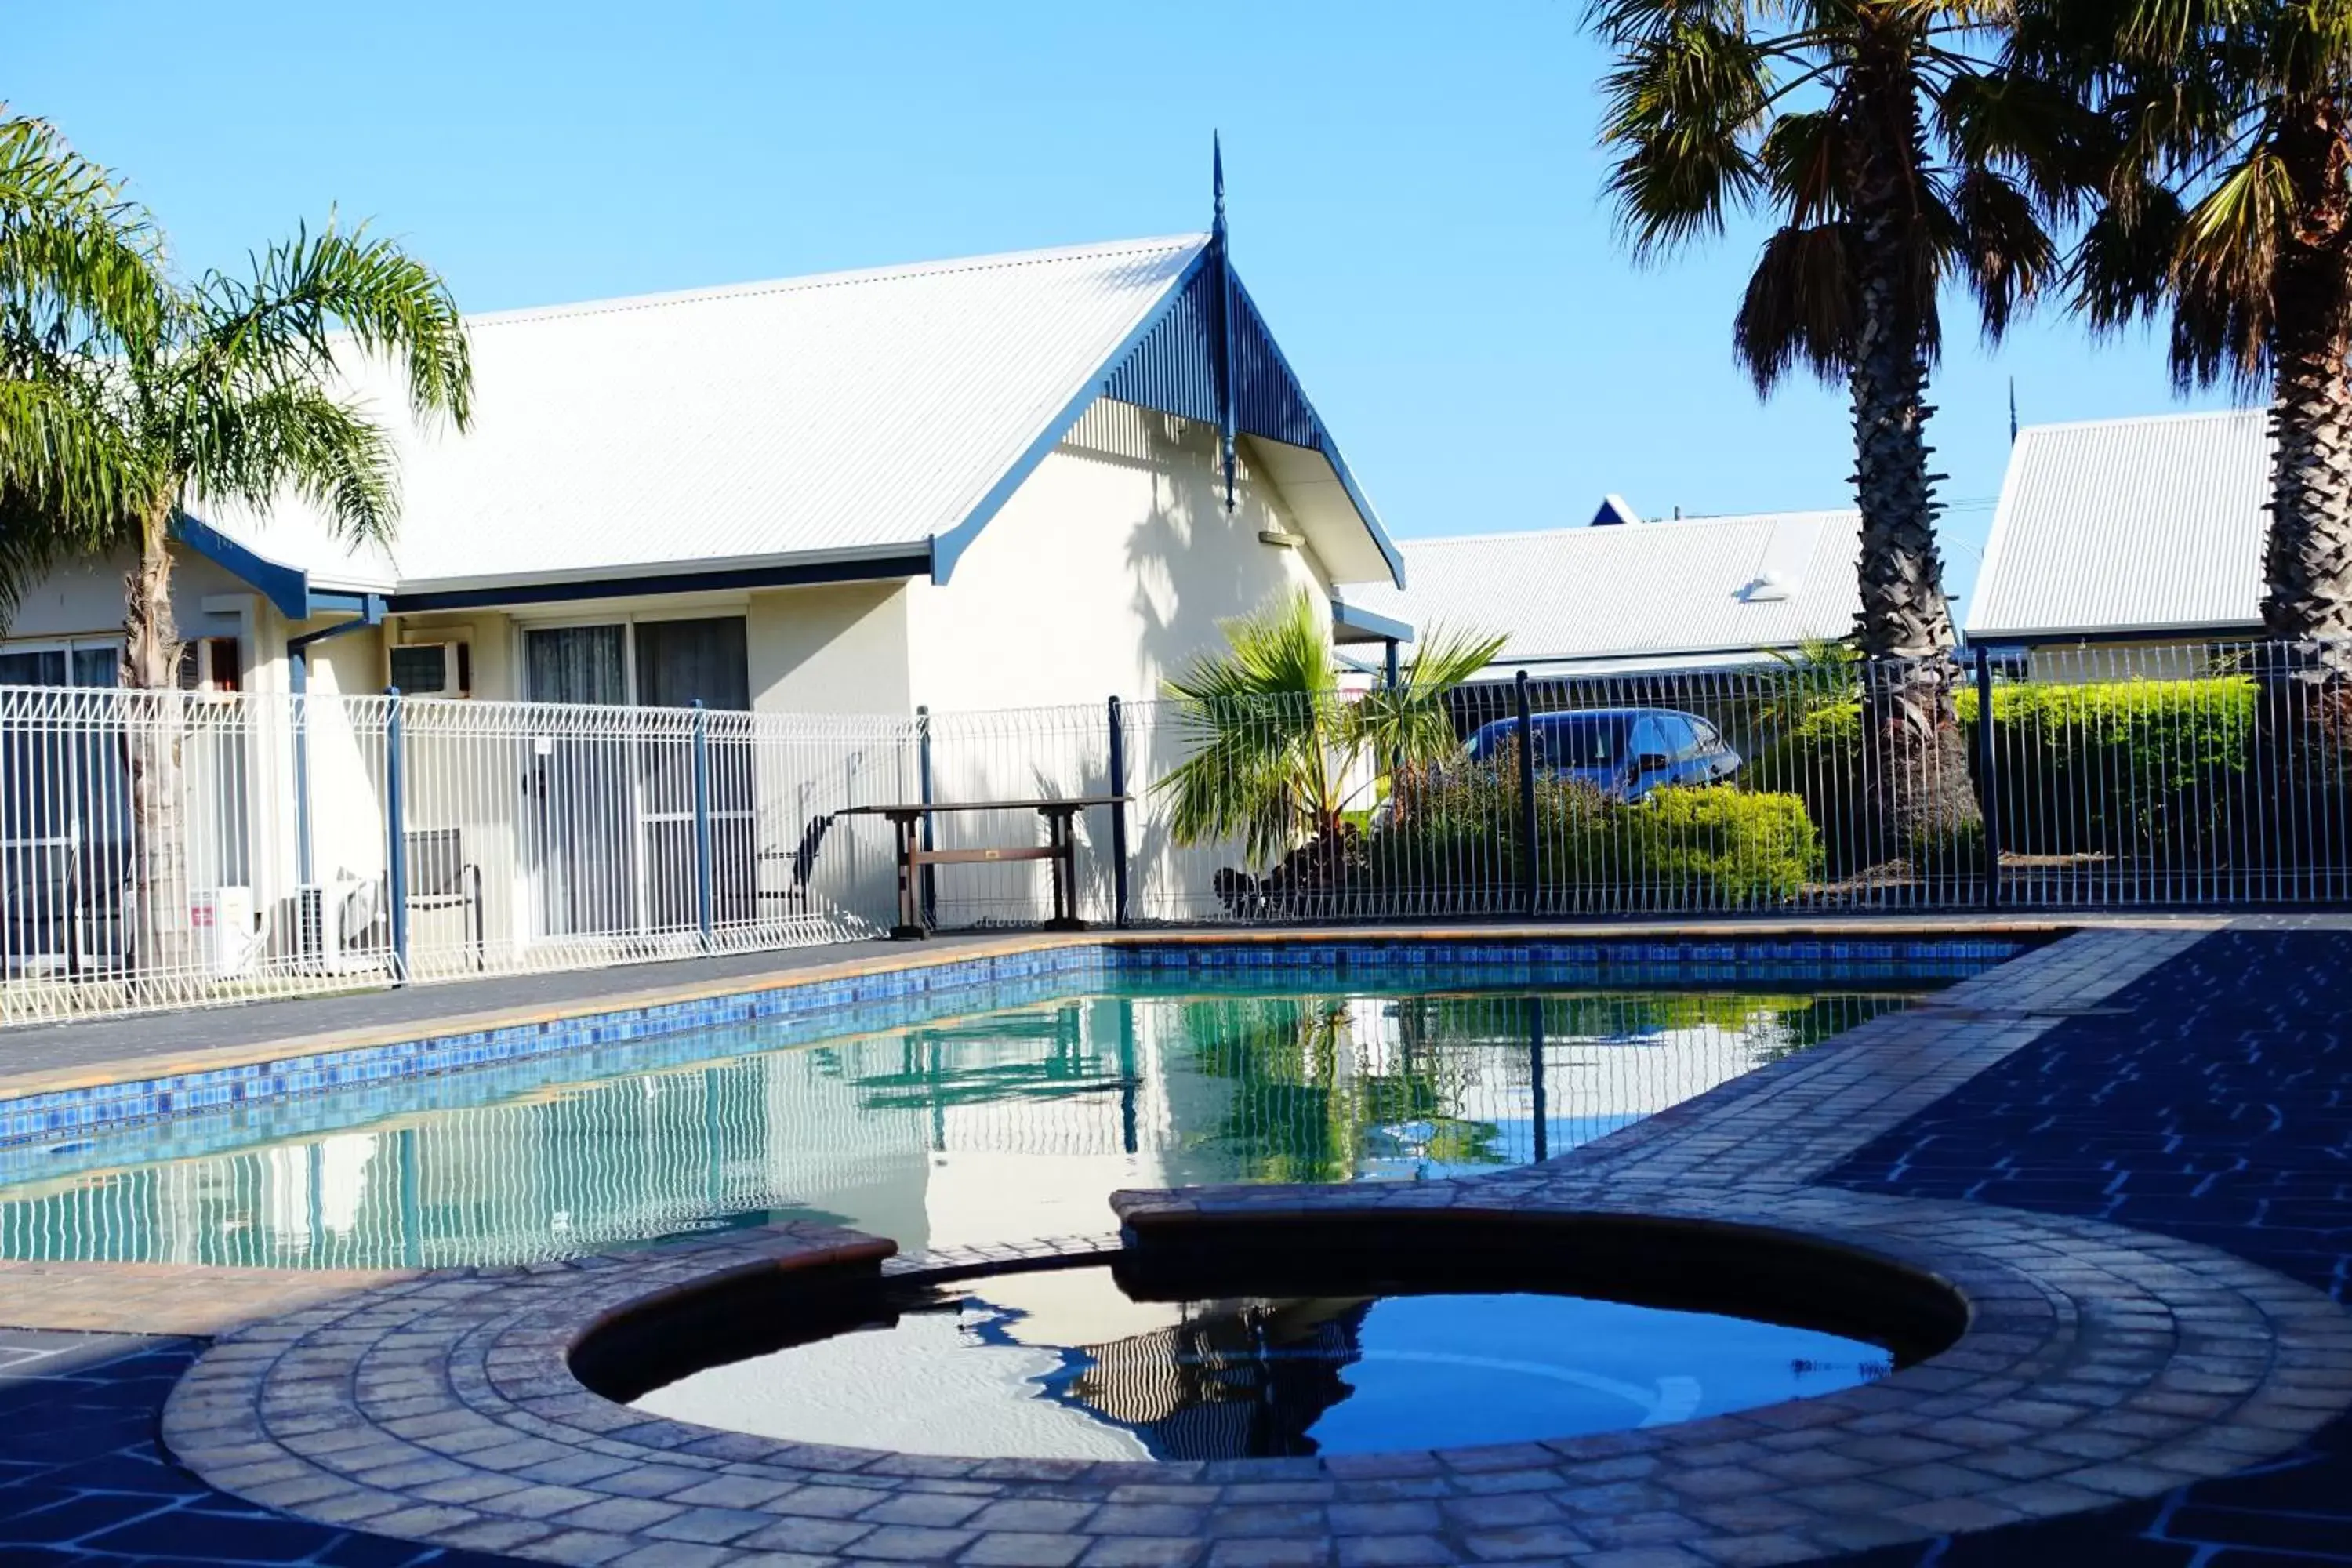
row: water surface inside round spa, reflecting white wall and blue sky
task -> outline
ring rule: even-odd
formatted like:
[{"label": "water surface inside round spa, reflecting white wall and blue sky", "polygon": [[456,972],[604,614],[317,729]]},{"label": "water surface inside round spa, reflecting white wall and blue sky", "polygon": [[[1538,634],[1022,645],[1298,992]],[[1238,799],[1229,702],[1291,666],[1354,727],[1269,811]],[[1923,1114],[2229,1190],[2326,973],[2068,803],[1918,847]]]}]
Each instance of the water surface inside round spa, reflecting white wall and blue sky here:
[{"label": "water surface inside round spa, reflecting white wall and blue sky", "polygon": [[1832,1333],[1578,1295],[1162,1302],[1070,1267],[910,1291],[635,1406],[898,1453],[1242,1460],[1663,1427],[1889,1366]]}]

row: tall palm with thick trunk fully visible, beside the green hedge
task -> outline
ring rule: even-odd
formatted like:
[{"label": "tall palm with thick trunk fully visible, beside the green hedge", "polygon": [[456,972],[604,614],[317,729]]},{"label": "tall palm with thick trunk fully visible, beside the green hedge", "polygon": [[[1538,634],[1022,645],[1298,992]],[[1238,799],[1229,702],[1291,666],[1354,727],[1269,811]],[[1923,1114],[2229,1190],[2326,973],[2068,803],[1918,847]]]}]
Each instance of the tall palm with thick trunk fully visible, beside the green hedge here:
[{"label": "tall palm with thick trunk fully visible, beside the green hedge", "polygon": [[[1987,336],[2053,261],[2032,82],[2002,75],[1978,0],[1595,0],[1609,190],[1637,256],[1769,214],[1733,353],[1771,393],[1792,369],[1853,402],[1863,512],[1858,646],[1870,665],[1882,842],[1976,820],[1952,703],[1952,611],[1936,552],[1929,367],[1959,280]],[[1893,846],[1893,844],[1889,844]]]}]

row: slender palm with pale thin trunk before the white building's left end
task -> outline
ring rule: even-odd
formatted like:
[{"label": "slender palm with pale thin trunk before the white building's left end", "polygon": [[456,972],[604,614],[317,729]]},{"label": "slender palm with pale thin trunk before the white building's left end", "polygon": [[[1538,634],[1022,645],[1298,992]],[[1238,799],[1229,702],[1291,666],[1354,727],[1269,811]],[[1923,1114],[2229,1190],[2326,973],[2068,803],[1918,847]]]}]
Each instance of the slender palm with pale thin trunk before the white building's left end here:
[{"label": "slender palm with pale thin trunk before the white building's left end", "polygon": [[473,371],[442,280],[390,240],[329,223],[299,230],[249,275],[162,280],[153,331],[59,360],[54,383],[108,430],[120,505],[96,531],[61,529],[80,550],[127,550],[122,684],[151,691],[132,741],[132,830],[141,971],[188,961],[186,844],[179,820],[179,628],[172,534],[191,505],[268,508],[299,496],[336,534],[386,541],[400,510],[390,437],[348,390],[362,362],[388,362],[423,421],[466,425]]}]

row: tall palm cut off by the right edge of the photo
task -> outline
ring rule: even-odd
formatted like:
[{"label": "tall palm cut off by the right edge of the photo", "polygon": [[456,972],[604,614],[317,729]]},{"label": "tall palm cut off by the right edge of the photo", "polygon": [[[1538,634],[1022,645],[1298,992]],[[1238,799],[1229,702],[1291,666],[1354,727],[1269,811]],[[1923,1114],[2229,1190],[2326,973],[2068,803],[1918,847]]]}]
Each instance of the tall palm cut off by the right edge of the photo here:
[{"label": "tall palm cut off by the right edge of the photo", "polygon": [[2270,388],[2263,628],[2352,639],[2352,5],[2025,0],[2016,63],[2107,129],[2082,313],[2169,310],[2180,390]]}]

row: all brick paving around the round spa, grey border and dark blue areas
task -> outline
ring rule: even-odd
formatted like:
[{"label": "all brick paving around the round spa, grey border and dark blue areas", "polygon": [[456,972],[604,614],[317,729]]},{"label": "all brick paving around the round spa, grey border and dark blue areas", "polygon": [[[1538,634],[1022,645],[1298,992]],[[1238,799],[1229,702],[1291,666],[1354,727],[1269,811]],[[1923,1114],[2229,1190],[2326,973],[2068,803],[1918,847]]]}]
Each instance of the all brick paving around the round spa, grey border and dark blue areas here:
[{"label": "all brick paving around the round spa, grey border and dark blue areas", "polygon": [[[2070,938],[1545,1168],[1122,1208],[1141,1237],[1367,1206],[1670,1211],[1844,1239],[1978,1300],[1955,1352],[1844,1396],[1573,1443],[1087,1467],[776,1446],[649,1422],[569,1378],[562,1347],[602,1307],[842,1246],[786,1229],[390,1281],[223,1340],[179,1385],[172,1450],[308,1523],[160,1458],[153,1403],[193,1340],[82,1349],[49,1382],[99,1389],[87,1403],[120,1420],[54,1455],[0,1422],[0,1563],[1691,1568],[1872,1542],[1903,1544],[1837,1561],[2352,1561],[2352,1319],[2338,1305],[2352,1288],[2352,1030],[2331,999],[2345,936],[2199,938]],[[0,1371],[0,1401],[9,1389]],[[99,1467],[80,1481],[42,1479],[85,1460]],[[158,1476],[183,1490],[111,1483]],[[47,1500],[12,1507],[19,1488]],[[12,1533],[16,1519],[61,1530],[73,1507],[96,1509],[80,1535]],[[146,1533],[108,1535],[139,1521]]]}]

